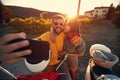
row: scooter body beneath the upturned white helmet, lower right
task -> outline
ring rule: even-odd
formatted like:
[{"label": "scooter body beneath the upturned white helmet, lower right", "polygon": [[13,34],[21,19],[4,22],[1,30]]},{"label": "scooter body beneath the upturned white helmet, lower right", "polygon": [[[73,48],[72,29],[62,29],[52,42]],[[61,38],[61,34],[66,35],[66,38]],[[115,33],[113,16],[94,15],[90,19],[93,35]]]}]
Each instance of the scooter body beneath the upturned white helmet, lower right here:
[{"label": "scooter body beneath the upturned white helmet, lower right", "polygon": [[103,69],[103,70],[98,70],[98,74],[96,72],[94,72],[94,70],[92,69],[93,67],[93,63],[92,63],[92,59],[89,60],[87,69],[86,69],[86,74],[85,74],[85,80],[120,80],[120,78],[116,75],[112,74],[112,69],[105,69],[103,67],[98,67],[98,65],[94,65],[97,66],[96,69]]}]

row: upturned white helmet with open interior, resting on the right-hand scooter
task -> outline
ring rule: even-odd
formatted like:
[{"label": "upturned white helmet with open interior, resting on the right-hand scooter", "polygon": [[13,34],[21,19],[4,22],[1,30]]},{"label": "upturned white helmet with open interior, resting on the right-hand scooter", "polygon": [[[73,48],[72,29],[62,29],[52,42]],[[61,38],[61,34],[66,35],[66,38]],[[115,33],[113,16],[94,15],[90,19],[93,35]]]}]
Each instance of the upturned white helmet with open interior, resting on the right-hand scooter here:
[{"label": "upturned white helmet with open interior, resting on the right-hand scooter", "polygon": [[118,61],[119,58],[111,53],[110,48],[103,44],[94,44],[90,47],[90,56],[94,62],[104,68],[112,68]]}]

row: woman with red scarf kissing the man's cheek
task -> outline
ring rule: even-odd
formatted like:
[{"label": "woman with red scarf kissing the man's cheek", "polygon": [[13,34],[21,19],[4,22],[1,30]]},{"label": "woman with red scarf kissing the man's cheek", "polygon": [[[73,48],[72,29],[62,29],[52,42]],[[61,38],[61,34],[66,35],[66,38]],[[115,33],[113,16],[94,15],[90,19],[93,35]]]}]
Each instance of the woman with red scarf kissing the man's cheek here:
[{"label": "woman with red scarf kissing the man's cheek", "polygon": [[69,54],[66,63],[72,80],[75,80],[78,56],[83,56],[85,52],[85,42],[80,36],[80,27],[77,18],[67,19],[64,34],[64,52],[60,55]]}]

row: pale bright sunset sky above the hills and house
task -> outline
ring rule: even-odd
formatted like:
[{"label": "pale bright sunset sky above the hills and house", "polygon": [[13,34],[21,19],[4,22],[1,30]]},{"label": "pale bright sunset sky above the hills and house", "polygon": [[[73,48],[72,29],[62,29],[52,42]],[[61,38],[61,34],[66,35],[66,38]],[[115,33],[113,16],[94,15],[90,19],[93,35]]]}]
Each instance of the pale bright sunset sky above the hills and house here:
[{"label": "pale bright sunset sky above the hills and house", "polygon": [[[5,5],[15,5],[30,7],[39,10],[61,12],[71,16],[77,14],[78,0],[1,0]],[[120,3],[120,0],[81,0],[80,15],[85,11],[94,9],[94,7],[107,6],[113,3],[114,6]]]}]

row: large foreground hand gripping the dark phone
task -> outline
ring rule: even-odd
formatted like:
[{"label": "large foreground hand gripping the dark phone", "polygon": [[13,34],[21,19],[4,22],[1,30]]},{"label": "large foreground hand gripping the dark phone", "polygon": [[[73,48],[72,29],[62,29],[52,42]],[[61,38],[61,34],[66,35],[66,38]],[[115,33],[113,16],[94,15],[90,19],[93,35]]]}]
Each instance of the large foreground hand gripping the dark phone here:
[{"label": "large foreground hand gripping the dark phone", "polygon": [[17,38],[26,38],[26,34],[23,32],[7,34],[0,38],[0,61],[4,63],[15,63],[23,60],[24,58],[22,56],[31,54],[31,50],[13,52],[16,49],[29,45],[29,41],[27,40],[7,44],[9,41]]}]

